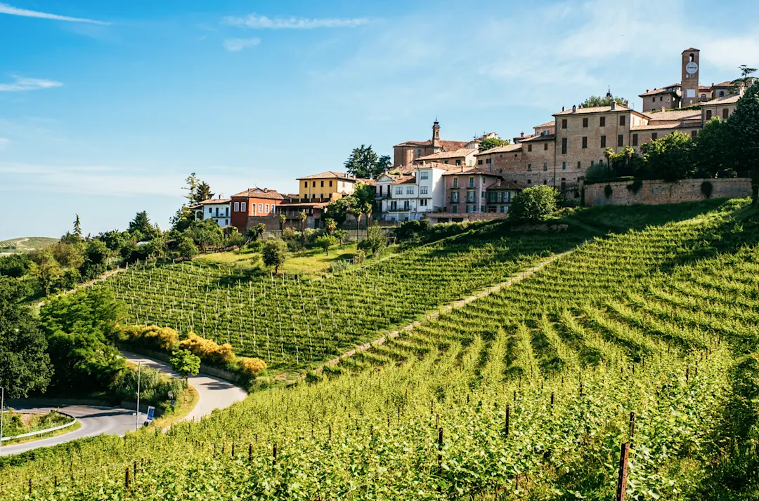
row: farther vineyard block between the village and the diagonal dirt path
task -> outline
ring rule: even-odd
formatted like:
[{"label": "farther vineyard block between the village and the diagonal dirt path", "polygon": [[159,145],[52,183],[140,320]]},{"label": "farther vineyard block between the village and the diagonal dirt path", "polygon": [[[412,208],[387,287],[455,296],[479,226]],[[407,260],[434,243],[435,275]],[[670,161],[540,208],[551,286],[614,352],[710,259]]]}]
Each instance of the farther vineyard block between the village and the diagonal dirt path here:
[{"label": "farther vineyard block between the village and the diagonal dirt path", "polygon": [[581,239],[469,233],[327,278],[250,277],[225,266],[156,268],[149,261],[104,287],[126,302],[128,323],[192,330],[281,371],[339,355]]}]

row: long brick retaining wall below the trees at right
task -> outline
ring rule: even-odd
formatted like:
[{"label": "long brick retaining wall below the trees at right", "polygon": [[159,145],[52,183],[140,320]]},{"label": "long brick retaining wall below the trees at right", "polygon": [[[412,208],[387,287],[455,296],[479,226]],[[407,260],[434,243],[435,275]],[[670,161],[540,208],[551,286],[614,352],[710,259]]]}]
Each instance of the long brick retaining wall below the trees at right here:
[{"label": "long brick retaining wall below the trees at right", "polygon": [[[751,196],[751,178],[712,179],[713,199],[732,199]],[[627,187],[632,181],[596,183],[585,185],[585,205],[659,205],[704,200],[701,183],[704,179],[686,179],[668,183],[663,180],[644,180],[638,193]],[[606,198],[606,186],[612,187],[612,195]]]}]

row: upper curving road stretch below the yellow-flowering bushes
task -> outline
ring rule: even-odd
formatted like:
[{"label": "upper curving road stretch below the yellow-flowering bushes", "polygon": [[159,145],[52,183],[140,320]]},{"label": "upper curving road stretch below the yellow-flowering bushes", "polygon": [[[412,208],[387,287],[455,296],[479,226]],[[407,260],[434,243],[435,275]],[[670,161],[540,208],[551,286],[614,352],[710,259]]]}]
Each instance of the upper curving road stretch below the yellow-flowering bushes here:
[{"label": "upper curving road stretch below the yellow-flowering bushes", "polygon": [[[135,364],[142,362],[143,365],[147,365],[150,368],[179,377],[179,374],[172,371],[171,365],[168,365],[166,362],[149,359],[146,356],[137,355],[137,353],[132,352],[122,351],[121,354]],[[195,405],[195,409],[183,421],[197,421],[204,415],[209,415],[213,409],[225,409],[247,396],[247,393],[242,388],[236,387],[234,384],[218,377],[206,374],[198,374],[195,377],[191,377],[189,383],[195,387],[200,398],[197,405]]]}]

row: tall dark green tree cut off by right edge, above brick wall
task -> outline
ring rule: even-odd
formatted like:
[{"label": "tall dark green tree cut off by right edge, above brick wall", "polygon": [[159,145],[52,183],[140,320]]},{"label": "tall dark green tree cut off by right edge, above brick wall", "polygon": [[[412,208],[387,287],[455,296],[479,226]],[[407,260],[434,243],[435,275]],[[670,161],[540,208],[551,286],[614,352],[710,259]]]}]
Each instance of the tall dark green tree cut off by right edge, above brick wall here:
[{"label": "tall dark green tree cut off by right edge, above brick wall", "polygon": [[731,167],[737,170],[759,165],[759,81],[744,92],[727,119]]}]

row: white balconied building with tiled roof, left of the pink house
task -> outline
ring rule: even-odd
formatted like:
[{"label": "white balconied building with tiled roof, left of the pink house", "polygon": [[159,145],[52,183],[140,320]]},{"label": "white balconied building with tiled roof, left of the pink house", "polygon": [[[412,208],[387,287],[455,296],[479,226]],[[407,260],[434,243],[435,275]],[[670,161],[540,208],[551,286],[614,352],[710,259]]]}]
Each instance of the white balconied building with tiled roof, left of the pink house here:
[{"label": "white balconied building with tiled roof, left of the pink house", "polygon": [[[455,167],[455,166],[451,166]],[[427,212],[446,208],[446,164],[427,163],[386,172],[376,180],[376,198],[383,221],[420,220]]]}]

